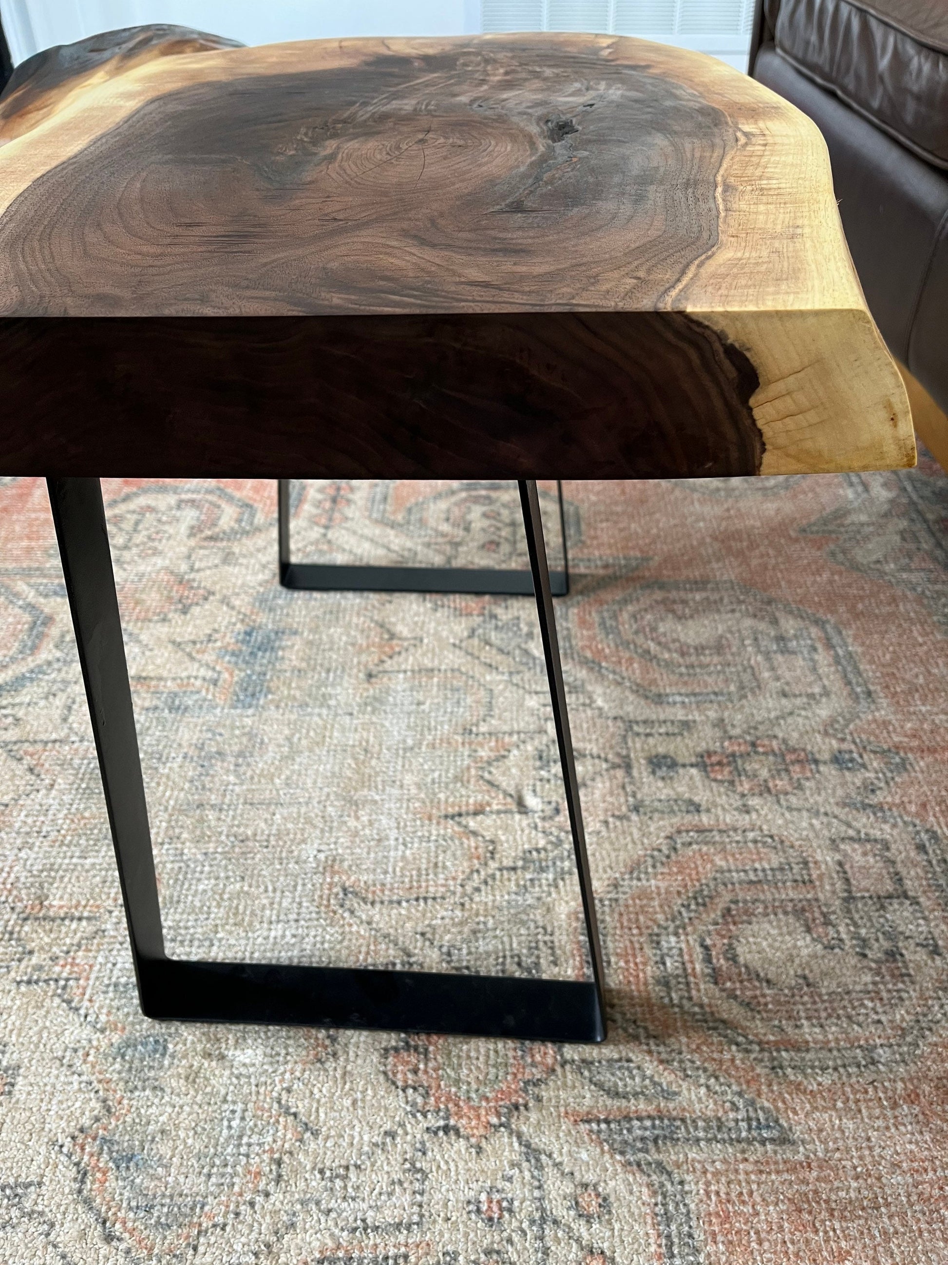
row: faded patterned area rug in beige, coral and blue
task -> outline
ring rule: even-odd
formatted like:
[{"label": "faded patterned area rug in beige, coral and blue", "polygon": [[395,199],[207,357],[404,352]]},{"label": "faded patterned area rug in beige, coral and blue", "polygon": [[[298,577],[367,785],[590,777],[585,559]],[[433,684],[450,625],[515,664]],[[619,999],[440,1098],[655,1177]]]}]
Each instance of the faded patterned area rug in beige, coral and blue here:
[{"label": "faded patterned area rug in beige, coral and blue", "polygon": [[[948,1261],[948,479],[565,491],[599,1047],[143,1018],[0,486],[0,1260]],[[532,600],[291,593],[273,483],[105,495],[169,950],[581,978]],[[509,484],[293,497],[298,560],[526,565]]]}]

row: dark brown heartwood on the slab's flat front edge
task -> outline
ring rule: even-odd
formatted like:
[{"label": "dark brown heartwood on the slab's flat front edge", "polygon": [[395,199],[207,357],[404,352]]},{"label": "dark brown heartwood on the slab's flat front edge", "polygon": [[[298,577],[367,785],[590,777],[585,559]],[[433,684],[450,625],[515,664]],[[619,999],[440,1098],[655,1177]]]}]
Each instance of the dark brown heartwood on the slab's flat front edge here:
[{"label": "dark brown heartwood on the slab's flat front edge", "polygon": [[747,357],[652,312],[0,323],[8,472],[753,474]]}]

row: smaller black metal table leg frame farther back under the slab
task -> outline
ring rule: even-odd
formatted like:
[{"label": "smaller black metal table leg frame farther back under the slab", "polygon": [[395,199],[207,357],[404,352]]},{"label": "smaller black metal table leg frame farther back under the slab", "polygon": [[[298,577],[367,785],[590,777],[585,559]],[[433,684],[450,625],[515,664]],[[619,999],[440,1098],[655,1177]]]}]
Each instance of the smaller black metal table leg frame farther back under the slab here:
[{"label": "smaller black metal table leg frame farther back under the slab", "polygon": [[[566,516],[562,483],[556,481],[562,538],[562,571],[550,572],[554,597],[570,591],[566,553]],[[279,540],[279,582],[284,588],[365,589],[383,593],[493,593],[530,597],[533,576],[528,571],[475,569],[471,567],[348,567],[335,563],[291,562],[289,558],[289,479],[277,479],[277,531]]]}]

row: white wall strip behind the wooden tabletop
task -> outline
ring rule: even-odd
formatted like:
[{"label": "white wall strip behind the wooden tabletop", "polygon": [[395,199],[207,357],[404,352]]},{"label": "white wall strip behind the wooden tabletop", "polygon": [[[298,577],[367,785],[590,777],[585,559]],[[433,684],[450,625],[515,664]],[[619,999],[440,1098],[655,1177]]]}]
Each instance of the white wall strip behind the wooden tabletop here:
[{"label": "white wall strip behind the wooden tabletop", "polygon": [[14,62],[51,44],[171,22],[245,44],[334,35],[597,30],[747,63],[753,0],[0,0]]}]

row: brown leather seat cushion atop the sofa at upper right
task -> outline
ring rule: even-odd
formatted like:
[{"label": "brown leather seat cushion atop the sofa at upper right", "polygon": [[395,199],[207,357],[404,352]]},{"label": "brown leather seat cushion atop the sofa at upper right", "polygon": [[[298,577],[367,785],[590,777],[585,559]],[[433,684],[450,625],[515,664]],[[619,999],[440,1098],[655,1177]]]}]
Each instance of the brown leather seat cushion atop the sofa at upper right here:
[{"label": "brown leather seat cushion atop the sofa at upper right", "polygon": [[948,0],[766,0],[777,52],[948,168]]}]

